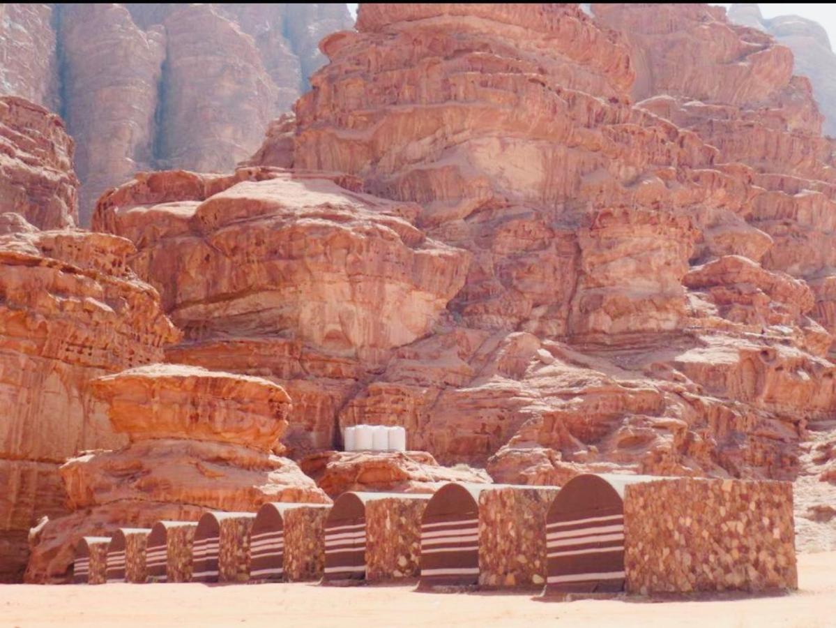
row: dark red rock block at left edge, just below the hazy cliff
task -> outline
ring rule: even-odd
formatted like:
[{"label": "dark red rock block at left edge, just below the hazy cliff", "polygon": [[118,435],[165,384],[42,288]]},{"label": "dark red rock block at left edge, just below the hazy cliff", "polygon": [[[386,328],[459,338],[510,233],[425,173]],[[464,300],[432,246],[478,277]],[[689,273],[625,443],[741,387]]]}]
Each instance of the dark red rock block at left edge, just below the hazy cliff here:
[{"label": "dark red rock block at left edge, just below the hazy cliff", "polygon": [[0,213],[17,213],[42,229],[74,226],[73,146],[59,116],[22,98],[0,97]]}]

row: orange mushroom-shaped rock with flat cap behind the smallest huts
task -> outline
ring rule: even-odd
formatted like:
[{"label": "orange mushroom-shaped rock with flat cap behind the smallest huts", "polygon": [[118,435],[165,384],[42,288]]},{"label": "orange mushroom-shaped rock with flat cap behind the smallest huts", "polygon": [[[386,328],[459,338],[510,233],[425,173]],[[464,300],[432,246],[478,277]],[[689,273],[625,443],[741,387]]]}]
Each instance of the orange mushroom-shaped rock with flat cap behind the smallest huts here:
[{"label": "orange mushroom-shaped rock with flat cap behind the smallest huts", "polygon": [[257,377],[195,366],[150,365],[94,380],[127,447],[92,452],[61,467],[69,508],[38,531],[26,578],[63,581],[81,536],[150,527],[176,513],[254,511],[266,502],[328,503],[288,458],[271,452],[287,427],[290,400]]}]

